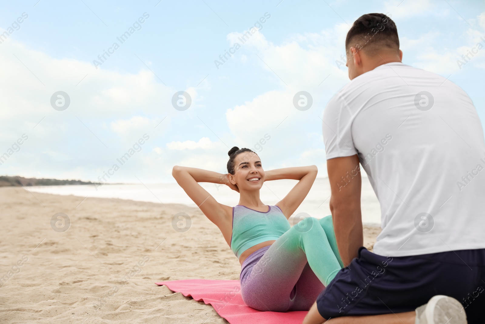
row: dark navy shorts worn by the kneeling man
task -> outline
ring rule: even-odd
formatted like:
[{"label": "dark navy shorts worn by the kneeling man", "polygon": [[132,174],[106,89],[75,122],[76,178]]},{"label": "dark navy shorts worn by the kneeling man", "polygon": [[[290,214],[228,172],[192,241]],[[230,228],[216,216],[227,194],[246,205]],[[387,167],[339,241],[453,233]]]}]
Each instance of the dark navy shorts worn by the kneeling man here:
[{"label": "dark navy shorts worn by the kneeling man", "polygon": [[413,311],[435,295],[463,305],[469,324],[485,323],[485,249],[379,256],[361,247],[317,298],[324,319]]}]

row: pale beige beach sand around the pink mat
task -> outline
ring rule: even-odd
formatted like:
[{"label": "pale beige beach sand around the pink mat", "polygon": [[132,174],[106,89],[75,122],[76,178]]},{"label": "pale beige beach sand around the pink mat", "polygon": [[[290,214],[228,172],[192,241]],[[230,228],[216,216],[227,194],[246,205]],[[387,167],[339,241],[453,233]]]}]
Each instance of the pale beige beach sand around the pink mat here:
[{"label": "pale beige beach sand around the pink mat", "polygon": [[[50,224],[60,212],[71,222],[65,232]],[[188,231],[173,228],[177,213],[190,216]],[[7,187],[0,220],[0,323],[228,323],[154,284],[239,279],[237,258],[198,208]],[[364,226],[367,248],[379,232]]]}]

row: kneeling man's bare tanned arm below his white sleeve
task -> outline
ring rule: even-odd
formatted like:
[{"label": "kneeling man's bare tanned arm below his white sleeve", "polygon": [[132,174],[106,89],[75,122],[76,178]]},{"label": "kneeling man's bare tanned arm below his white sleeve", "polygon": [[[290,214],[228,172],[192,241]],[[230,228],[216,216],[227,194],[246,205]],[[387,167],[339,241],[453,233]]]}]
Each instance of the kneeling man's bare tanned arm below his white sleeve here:
[{"label": "kneeling man's bare tanned arm below his white sleeve", "polygon": [[332,196],[330,211],[339,247],[345,266],[357,257],[359,247],[364,245],[362,215],[360,211],[359,158],[356,155],[327,160],[328,180]]}]

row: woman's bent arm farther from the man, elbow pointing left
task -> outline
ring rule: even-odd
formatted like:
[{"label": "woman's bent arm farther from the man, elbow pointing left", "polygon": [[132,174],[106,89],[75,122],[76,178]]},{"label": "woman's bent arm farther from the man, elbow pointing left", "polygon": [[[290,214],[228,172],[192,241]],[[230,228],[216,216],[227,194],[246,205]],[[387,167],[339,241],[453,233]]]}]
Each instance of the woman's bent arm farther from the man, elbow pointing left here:
[{"label": "woman's bent arm farther from the man, elbow pointing left", "polygon": [[[227,225],[227,215],[232,215],[232,207],[219,204],[198,182],[226,184],[224,180],[226,175],[214,171],[179,166],[173,168],[172,175],[204,215],[222,231]],[[230,184],[228,181],[227,183]]]}]

